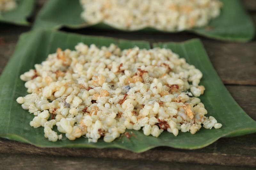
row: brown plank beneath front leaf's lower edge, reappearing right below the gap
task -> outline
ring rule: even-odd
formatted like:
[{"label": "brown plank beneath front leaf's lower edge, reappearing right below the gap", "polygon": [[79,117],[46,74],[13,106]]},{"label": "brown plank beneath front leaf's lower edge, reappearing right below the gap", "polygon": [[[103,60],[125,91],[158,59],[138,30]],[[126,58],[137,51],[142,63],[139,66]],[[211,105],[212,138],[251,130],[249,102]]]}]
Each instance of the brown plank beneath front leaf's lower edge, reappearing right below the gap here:
[{"label": "brown plank beneath front leaf's lower edge, reappearing right below the gap", "polygon": [[[256,86],[226,86],[239,105],[256,119],[255,101]],[[244,96],[244,97],[241,97]],[[198,163],[206,165],[256,166],[256,134],[242,137],[220,138],[203,149],[181,150],[159,147],[143,153],[133,153],[122,149],[92,148],[38,148],[8,139],[0,139],[0,153],[32,154],[52,156],[73,156],[90,158],[111,158],[167,161],[180,163]],[[161,156],[159,156],[161,155]]]}]

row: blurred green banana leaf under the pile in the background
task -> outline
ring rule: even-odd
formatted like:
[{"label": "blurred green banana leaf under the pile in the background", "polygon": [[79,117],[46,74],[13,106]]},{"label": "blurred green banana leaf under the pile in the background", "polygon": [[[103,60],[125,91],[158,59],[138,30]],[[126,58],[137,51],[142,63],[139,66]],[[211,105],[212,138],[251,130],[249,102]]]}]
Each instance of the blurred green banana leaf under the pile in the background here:
[{"label": "blurred green banana leaf under the pile in the background", "polygon": [[[223,3],[221,14],[203,28],[188,30],[199,35],[227,40],[249,41],[254,37],[254,25],[239,0],[220,0]],[[81,18],[82,6],[79,0],[49,0],[39,12],[34,29],[59,29],[63,26],[69,28],[94,28],[118,30],[104,23],[89,25]],[[128,31],[128,30],[121,30]],[[140,31],[156,32],[154,28],[144,28]]]}]

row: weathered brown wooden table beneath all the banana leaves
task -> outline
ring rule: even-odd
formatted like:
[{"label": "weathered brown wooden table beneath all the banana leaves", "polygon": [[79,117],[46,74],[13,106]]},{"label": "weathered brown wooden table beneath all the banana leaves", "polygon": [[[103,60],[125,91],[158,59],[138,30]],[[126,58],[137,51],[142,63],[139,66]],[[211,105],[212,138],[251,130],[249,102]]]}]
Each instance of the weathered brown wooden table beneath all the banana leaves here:
[{"label": "weathered brown wooden table beneath all the banana leaves", "polygon": [[[243,0],[245,8],[256,23],[256,1]],[[44,4],[40,0],[30,19]],[[12,55],[18,37],[31,27],[0,24],[0,74]],[[70,30],[87,35],[111,36],[122,39],[183,41],[198,37],[192,33],[141,33],[93,30]],[[256,120],[256,39],[248,43],[220,42],[199,37],[212,64],[228,91],[244,111]],[[256,167],[256,134],[221,138],[203,149],[181,150],[158,147],[143,153],[122,149],[38,148],[0,138],[0,169],[87,168],[87,169],[250,169]]]}]

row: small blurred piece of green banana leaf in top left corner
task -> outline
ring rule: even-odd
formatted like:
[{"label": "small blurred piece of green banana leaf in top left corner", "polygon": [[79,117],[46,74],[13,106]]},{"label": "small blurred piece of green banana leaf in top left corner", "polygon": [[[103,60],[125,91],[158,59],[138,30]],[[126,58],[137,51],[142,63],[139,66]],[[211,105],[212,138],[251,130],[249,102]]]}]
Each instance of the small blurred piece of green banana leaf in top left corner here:
[{"label": "small blurred piece of green banana leaf in top left corner", "polygon": [[33,11],[34,5],[35,0],[19,0],[15,9],[0,14],[0,22],[29,25],[27,18]]}]

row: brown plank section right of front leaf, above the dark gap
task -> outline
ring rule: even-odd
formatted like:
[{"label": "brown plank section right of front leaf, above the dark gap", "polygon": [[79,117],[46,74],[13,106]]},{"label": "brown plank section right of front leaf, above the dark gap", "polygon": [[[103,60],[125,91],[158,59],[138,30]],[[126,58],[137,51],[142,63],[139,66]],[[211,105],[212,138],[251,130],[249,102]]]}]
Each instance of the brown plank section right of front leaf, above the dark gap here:
[{"label": "brown plank section right of front leaf, above the dark gap", "polygon": [[241,44],[204,40],[203,43],[224,84],[256,85],[256,41]]}]

